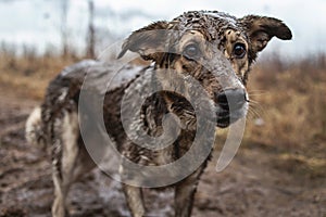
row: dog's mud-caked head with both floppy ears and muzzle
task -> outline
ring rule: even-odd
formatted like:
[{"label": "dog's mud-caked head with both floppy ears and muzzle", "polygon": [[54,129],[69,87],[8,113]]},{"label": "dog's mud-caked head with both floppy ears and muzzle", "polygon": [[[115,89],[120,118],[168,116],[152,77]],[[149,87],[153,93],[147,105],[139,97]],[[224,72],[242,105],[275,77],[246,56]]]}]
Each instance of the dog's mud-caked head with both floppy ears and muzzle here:
[{"label": "dog's mud-caked head with both floppy ears and muzzle", "polygon": [[247,114],[244,87],[250,66],[274,36],[283,40],[292,37],[277,18],[193,11],[134,31],[120,58],[130,50],[155,62],[158,68],[191,76],[215,103],[217,126],[226,127]]}]

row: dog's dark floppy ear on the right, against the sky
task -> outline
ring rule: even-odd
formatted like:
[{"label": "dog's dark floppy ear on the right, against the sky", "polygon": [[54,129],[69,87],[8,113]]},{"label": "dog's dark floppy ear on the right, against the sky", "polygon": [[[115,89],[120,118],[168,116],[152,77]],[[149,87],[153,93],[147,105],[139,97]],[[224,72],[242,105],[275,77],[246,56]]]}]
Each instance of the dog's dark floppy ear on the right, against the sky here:
[{"label": "dog's dark floppy ear on the right, against the sky", "polygon": [[239,21],[248,33],[254,53],[262,51],[274,36],[283,40],[292,38],[289,27],[277,18],[248,15]]}]

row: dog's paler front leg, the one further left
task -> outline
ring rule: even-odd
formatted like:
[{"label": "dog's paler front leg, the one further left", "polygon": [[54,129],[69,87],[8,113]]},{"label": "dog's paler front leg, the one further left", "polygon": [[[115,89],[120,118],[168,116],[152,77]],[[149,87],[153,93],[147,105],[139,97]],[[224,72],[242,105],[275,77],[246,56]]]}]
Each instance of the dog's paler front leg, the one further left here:
[{"label": "dog's paler front leg, the one further left", "polygon": [[145,206],[141,188],[123,184],[127,205],[131,212],[133,217],[145,216]]}]

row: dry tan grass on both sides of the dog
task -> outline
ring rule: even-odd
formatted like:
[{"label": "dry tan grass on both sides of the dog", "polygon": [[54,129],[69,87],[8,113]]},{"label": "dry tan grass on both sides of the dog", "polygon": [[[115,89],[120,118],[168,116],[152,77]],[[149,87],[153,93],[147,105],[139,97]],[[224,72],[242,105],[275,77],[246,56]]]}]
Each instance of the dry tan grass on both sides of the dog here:
[{"label": "dry tan grass on both sides of the dog", "polygon": [[[41,99],[46,87],[76,59],[0,58],[0,85],[23,97]],[[283,62],[261,61],[249,80],[253,101],[243,149],[262,148],[275,155],[275,167],[326,177],[326,56]]]}]

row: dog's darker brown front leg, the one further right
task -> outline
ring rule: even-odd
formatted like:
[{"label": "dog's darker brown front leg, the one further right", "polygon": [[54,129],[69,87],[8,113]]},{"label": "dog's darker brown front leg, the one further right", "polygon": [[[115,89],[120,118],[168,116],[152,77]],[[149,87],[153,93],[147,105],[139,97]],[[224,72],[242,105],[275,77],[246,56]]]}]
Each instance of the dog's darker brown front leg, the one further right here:
[{"label": "dog's darker brown front leg, the one further right", "polygon": [[204,166],[202,165],[193,174],[176,184],[175,217],[189,217],[191,215],[193,196],[203,169]]}]

